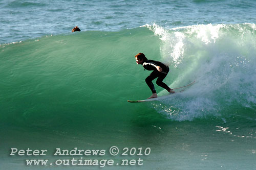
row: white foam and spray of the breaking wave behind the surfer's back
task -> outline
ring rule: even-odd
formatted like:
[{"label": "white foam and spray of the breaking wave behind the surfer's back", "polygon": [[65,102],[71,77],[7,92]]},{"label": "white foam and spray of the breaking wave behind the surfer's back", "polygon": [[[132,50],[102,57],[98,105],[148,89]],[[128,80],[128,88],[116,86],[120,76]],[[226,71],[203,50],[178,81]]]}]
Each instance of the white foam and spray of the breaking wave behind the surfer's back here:
[{"label": "white foam and spray of the breaking wave behind the surfer's back", "polygon": [[233,106],[255,109],[255,24],[145,27],[162,41],[161,57],[172,63],[169,77],[178,75],[170,87],[196,80],[184,92],[153,104],[156,110],[181,121],[228,116],[236,111]]}]

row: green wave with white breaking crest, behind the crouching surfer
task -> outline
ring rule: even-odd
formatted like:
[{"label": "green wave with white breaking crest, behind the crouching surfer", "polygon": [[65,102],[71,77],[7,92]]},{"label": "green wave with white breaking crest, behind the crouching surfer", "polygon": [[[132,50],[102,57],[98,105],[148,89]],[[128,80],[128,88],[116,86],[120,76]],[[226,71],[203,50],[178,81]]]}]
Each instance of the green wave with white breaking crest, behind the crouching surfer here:
[{"label": "green wave with white breaking crest, behind the crouching surfer", "polygon": [[[255,33],[250,23],[173,29],[145,25],[2,44],[1,122],[94,133],[113,124],[122,129],[134,112],[154,109],[174,121],[231,115],[255,119]],[[196,83],[163,100],[127,103],[151,95],[144,82],[150,71],[135,63],[139,52],[169,64],[165,82],[170,87]]]}]

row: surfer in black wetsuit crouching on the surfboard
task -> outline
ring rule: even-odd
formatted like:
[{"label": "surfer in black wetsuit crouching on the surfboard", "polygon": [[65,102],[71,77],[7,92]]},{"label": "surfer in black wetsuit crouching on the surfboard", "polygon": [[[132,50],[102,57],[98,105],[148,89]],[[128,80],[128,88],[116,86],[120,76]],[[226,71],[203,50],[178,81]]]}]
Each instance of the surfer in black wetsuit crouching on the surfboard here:
[{"label": "surfer in black wetsuit crouching on the surfboard", "polygon": [[175,91],[173,91],[173,89],[169,88],[163,82],[163,79],[167,76],[167,74],[169,72],[169,67],[167,65],[161,63],[160,61],[148,60],[143,53],[137,54],[135,56],[135,59],[136,59],[136,63],[141,64],[144,67],[144,69],[153,70],[153,72],[151,72],[150,76],[148,76],[145,79],[146,84],[148,85],[148,87],[150,87],[150,89],[153,93],[147,99],[157,98],[157,92],[156,92],[154,84],[152,83],[152,81],[156,78],[158,78],[157,82],[156,82],[158,86],[163,87],[169,93],[175,93]]}]

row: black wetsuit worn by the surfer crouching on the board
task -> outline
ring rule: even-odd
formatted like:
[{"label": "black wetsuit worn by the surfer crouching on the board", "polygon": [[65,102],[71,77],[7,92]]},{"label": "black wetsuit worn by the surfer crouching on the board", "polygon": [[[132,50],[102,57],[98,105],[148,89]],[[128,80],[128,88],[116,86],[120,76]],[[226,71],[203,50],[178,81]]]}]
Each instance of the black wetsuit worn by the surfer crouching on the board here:
[{"label": "black wetsuit worn by the surfer crouching on the board", "polygon": [[[170,88],[163,82],[163,79],[167,76],[169,72],[169,67],[159,61],[154,61],[154,60],[146,60],[145,62],[142,63],[142,66],[146,70],[153,70],[153,72],[148,76],[145,81],[148,87],[150,87],[152,93],[156,93],[156,89],[152,81],[156,78],[157,79],[157,85],[160,87],[163,87],[167,91],[170,90]],[[157,66],[162,68],[162,72],[157,70]]]}]

